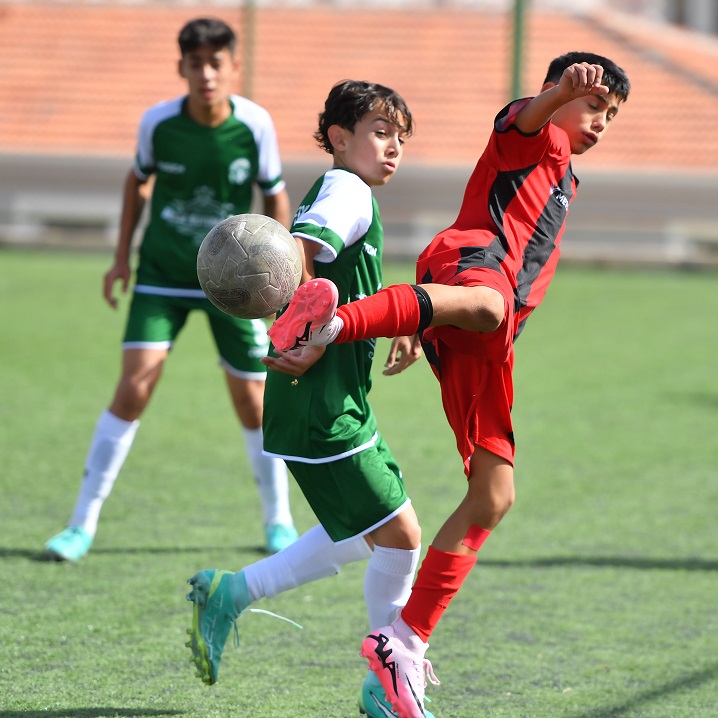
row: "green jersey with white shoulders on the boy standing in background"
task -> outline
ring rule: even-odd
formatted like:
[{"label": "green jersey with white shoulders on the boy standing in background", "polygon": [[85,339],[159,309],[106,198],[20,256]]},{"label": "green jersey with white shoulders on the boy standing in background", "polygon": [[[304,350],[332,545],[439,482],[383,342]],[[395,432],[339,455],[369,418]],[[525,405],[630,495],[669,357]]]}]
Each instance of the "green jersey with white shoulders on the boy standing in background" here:
[{"label": "green jersey with white shoulders on the boy standing in background", "polygon": [[269,113],[232,95],[232,114],[219,127],[194,122],[186,97],[160,103],[142,117],[135,174],[155,175],[150,219],[137,270],[145,287],[191,289],[202,296],[197,250],[218,222],[249,212],[252,186],[273,194],[284,187]]}]

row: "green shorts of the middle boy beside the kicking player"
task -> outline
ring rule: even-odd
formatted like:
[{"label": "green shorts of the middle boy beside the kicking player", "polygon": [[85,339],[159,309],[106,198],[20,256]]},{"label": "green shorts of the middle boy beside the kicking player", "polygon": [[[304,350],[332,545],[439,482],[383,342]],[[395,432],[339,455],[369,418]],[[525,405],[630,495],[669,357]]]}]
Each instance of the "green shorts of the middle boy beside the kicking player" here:
[{"label": "green shorts of the middle boy beside the kicking player", "polygon": [[321,525],[338,542],[366,534],[409,501],[401,471],[384,439],[337,461],[287,466]]}]

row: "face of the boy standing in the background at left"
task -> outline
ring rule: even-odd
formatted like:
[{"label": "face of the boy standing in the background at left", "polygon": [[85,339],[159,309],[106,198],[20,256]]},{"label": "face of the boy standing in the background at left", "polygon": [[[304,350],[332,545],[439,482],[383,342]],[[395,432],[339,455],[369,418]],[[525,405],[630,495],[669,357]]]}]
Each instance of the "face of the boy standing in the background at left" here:
[{"label": "face of the boy standing in the background at left", "polygon": [[227,101],[238,70],[239,62],[227,48],[198,47],[179,61],[179,73],[187,80],[191,101],[205,107]]}]

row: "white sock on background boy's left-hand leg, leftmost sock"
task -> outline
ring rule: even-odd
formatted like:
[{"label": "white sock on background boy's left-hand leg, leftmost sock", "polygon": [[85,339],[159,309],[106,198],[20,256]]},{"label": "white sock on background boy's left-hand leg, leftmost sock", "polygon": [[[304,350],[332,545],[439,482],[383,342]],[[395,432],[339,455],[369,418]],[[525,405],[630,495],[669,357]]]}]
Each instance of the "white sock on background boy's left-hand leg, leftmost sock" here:
[{"label": "white sock on background boy's left-hand leg, leftmost sock", "polygon": [[100,415],[85,460],[85,475],[70,518],[70,526],[82,526],[91,536],[105,499],[125,463],[140,422],[125,421],[105,411]]}]

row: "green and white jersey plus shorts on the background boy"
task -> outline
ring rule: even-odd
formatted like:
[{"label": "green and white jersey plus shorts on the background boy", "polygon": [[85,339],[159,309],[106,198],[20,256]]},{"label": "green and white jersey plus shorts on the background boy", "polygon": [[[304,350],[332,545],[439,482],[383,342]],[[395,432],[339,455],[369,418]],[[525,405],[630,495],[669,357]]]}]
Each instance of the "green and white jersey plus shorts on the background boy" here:
[{"label": "green and white jersey plus shorts on the background boy", "polygon": [[210,303],[197,279],[197,250],[218,222],[250,211],[255,183],[265,194],[284,188],[274,124],[262,107],[232,95],[229,118],[206,127],[187,115],[186,100],[155,105],[140,122],[134,172],[154,175],[155,184],[123,346],[169,348],[190,312],[204,311],[224,368],[261,380],[266,325]]}]

